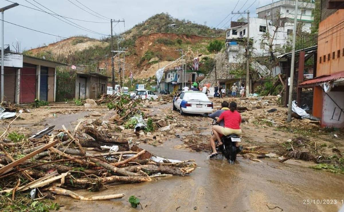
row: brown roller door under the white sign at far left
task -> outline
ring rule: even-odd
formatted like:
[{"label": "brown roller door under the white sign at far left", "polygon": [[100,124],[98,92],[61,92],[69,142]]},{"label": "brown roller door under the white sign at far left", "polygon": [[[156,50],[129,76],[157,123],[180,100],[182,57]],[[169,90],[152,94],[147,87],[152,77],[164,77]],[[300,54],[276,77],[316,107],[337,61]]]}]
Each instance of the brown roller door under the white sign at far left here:
[{"label": "brown roller door under the white sign at far left", "polygon": [[[3,94],[4,94],[4,100],[8,102],[14,102],[15,101],[15,74],[17,69],[16,68],[10,68],[5,67],[3,74],[4,74],[4,88],[3,88]],[[1,85],[1,81],[0,81]],[[1,90],[1,86],[0,86]]]}]

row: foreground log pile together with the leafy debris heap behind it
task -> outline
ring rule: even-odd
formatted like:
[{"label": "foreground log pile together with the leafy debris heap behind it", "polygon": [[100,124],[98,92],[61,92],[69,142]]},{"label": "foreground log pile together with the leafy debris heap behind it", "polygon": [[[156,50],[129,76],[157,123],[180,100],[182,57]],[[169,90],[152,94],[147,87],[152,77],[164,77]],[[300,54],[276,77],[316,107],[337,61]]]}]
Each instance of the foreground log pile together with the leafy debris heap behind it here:
[{"label": "foreground log pile together with the leafy debris heap behind it", "polygon": [[[116,101],[114,101],[116,99]],[[0,136],[0,193],[33,192],[33,198],[44,198],[42,192],[60,194],[78,200],[108,200],[122,198],[124,194],[111,194],[98,197],[84,197],[70,189],[89,189],[99,191],[110,183],[140,183],[151,181],[153,177],[169,175],[184,176],[190,174],[196,164],[194,160],[179,161],[165,159],[153,155],[137,146],[133,129],[125,129],[122,123],[140,114],[147,122],[138,133],[140,139],[153,140],[153,129],[148,130],[149,117],[142,112],[139,100],[128,97],[105,96],[97,101],[86,100],[86,105],[92,107],[95,103],[111,104],[115,113],[109,121],[104,121],[101,113],[89,115],[94,121],[80,121],[73,131],[64,126],[62,130],[52,131],[54,126],[48,127],[15,143],[5,139],[11,128],[11,123]],[[167,121],[164,121],[166,124]],[[163,125],[163,122],[160,121]],[[171,124],[160,128],[160,132],[170,133]],[[120,132],[118,132],[118,130]],[[161,141],[161,135],[155,135],[156,141]],[[149,137],[149,138],[147,138]],[[88,149],[92,149],[89,152]],[[97,153],[98,152],[98,153]],[[105,153],[104,153],[105,152]],[[158,159],[157,159],[158,158]],[[17,185],[19,177],[21,181]],[[3,184],[6,182],[6,184]],[[62,188],[63,187],[63,188]],[[51,195],[50,195],[51,196]]]}]

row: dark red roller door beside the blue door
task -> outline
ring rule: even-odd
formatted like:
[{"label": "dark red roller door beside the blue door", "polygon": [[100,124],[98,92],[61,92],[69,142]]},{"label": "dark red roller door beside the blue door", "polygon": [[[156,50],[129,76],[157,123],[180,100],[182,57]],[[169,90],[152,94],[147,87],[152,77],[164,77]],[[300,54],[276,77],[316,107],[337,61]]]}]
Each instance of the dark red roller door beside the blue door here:
[{"label": "dark red roller door beside the blue door", "polygon": [[34,102],[36,98],[36,68],[24,64],[20,72],[20,103]]}]

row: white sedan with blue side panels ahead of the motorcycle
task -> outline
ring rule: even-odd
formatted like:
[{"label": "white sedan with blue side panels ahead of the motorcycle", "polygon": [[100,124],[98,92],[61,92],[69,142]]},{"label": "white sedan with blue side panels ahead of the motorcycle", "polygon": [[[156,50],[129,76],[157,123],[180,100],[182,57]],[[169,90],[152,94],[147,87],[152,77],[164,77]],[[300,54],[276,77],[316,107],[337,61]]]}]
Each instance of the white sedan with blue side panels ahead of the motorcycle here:
[{"label": "white sedan with blue side panels ahead of the motorcycle", "polygon": [[179,109],[180,114],[210,114],[213,112],[213,102],[205,93],[199,91],[182,91],[173,99],[173,110]]}]

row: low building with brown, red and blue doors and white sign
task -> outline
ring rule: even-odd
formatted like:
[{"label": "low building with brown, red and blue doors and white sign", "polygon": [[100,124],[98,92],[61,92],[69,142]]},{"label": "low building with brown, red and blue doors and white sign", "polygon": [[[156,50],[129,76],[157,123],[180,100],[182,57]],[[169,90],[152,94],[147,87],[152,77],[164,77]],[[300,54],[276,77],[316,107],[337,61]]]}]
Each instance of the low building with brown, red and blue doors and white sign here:
[{"label": "low building with brown, red and blue doors and white sign", "polygon": [[6,52],[4,60],[4,101],[56,100],[56,66],[65,64],[12,52]]}]

